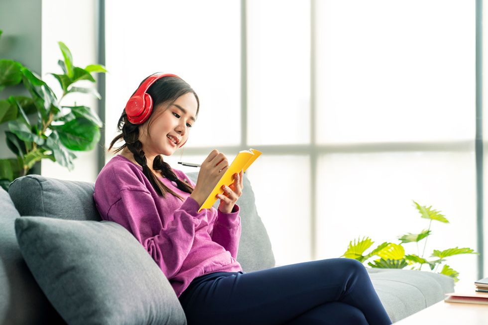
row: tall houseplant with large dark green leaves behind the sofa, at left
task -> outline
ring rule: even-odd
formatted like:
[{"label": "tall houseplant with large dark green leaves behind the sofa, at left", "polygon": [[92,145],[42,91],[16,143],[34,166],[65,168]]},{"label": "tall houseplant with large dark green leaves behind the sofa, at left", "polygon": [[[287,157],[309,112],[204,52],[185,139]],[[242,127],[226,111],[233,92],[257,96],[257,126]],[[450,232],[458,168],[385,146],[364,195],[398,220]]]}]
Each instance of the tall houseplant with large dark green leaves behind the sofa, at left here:
[{"label": "tall houseplant with large dark green leaves behind the sofa, at left", "polygon": [[[1,35],[1,30],[0,30]],[[80,80],[95,83],[92,73],[105,73],[102,65],[80,68],[73,65],[70,50],[58,42],[64,60],[59,60],[63,74],[51,73],[63,91],[57,98],[51,88],[34,72],[14,60],[0,59],[0,92],[6,87],[22,85],[30,94],[0,100],[0,124],[8,123],[6,144],[15,158],[0,159],[0,186],[5,190],[15,178],[27,175],[43,158],[73,170],[73,151],[92,150],[100,140],[102,121],[92,108],[65,106],[70,93],[87,93],[101,99],[93,88],[76,87]],[[34,117],[35,122],[29,120]]]}]

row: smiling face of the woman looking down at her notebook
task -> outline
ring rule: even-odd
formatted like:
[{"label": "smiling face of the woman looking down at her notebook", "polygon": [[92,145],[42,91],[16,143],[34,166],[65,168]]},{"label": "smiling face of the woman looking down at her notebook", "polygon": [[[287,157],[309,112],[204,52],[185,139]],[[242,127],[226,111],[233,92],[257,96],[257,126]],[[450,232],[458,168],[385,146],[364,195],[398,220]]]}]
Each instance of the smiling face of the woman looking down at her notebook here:
[{"label": "smiling face of the woman looking down at her notebook", "polygon": [[[170,107],[167,105],[168,103],[162,103],[162,107],[155,108],[156,110],[164,109],[164,111],[159,116],[154,116],[150,130],[147,130],[148,124],[143,128],[140,140],[146,156],[160,154],[171,156],[185,143],[195,124],[198,103],[193,93],[186,93],[178,97]],[[168,136],[175,138],[177,143],[173,143]]]}]

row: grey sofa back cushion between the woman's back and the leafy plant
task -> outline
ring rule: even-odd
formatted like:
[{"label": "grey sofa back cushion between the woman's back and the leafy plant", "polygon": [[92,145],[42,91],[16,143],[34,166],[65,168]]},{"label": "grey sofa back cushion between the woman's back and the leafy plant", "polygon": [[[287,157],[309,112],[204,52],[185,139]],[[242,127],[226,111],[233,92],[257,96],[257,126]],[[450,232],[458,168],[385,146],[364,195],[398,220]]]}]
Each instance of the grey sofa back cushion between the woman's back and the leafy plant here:
[{"label": "grey sofa back cushion between the woman's back and the leafy plant", "polygon": [[100,221],[102,218],[93,200],[94,191],[95,183],[41,175],[19,177],[8,188],[20,216]]}]

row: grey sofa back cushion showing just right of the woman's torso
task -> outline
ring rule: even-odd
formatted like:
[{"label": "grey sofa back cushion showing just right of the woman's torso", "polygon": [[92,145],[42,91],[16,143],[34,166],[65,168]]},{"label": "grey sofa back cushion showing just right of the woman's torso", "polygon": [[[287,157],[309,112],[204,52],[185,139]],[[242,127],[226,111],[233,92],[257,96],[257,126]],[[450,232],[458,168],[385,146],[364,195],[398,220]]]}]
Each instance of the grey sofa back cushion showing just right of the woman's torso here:
[{"label": "grey sofa back cushion showing just right of the woman's torso", "polygon": [[[193,182],[193,186],[198,179],[198,172],[186,173]],[[254,192],[252,191],[249,179],[244,173],[243,194],[237,201],[241,208],[241,240],[237,260],[241,263],[244,272],[252,272],[268,269],[275,266],[271,241],[261,218],[257,214],[254,203]],[[213,207],[219,208],[220,200],[217,200]]]}]

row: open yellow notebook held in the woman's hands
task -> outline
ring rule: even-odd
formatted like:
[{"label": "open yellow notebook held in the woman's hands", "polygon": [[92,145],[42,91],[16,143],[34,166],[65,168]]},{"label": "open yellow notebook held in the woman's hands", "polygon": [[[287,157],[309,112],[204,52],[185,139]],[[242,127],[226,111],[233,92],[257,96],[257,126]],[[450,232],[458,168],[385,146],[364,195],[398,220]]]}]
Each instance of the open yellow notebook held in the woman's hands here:
[{"label": "open yellow notebook held in the woman's hands", "polygon": [[245,172],[245,170],[254,162],[254,160],[257,159],[257,157],[261,155],[261,153],[261,151],[252,148],[249,150],[239,151],[234,161],[231,163],[224,175],[222,175],[222,178],[219,180],[212,192],[210,192],[209,196],[202,204],[200,209],[198,209],[198,212],[200,212],[200,210],[202,209],[212,208],[214,203],[219,199],[217,197],[217,194],[224,193],[222,185],[225,184],[227,186],[230,186],[232,183],[234,183],[236,179],[233,175],[239,174],[241,170]]}]

